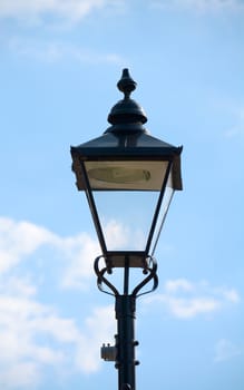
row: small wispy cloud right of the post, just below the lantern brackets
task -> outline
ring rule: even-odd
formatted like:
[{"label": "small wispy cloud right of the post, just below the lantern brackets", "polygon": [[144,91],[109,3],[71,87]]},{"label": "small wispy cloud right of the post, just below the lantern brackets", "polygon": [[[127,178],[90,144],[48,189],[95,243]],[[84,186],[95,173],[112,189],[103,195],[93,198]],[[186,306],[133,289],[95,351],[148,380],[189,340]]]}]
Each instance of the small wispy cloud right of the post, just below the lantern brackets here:
[{"label": "small wispy cloud right of the post, just below the lantern brackets", "polygon": [[226,304],[236,304],[240,295],[234,289],[212,287],[207,282],[192,283],[179,279],[167,281],[163,293],[145,299],[145,303],[153,302],[177,319],[193,319],[214,313]]}]

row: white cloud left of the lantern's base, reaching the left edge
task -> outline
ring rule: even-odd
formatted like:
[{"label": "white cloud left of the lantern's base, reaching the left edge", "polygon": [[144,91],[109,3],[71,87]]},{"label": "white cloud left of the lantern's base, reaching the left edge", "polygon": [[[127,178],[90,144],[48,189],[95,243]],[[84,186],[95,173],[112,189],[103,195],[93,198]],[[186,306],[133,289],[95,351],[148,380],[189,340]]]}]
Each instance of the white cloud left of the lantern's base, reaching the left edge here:
[{"label": "white cloud left of the lantern's base, reaching the left edge", "polygon": [[[67,287],[87,285],[94,274],[92,262],[100,253],[97,240],[86,233],[72,237],[60,237],[29,222],[0,217],[0,275],[27,261],[42,246],[55,251],[62,264],[60,285]],[[17,282],[13,276],[7,281],[8,285],[11,283],[11,289],[25,287],[20,285],[22,282]]]}]

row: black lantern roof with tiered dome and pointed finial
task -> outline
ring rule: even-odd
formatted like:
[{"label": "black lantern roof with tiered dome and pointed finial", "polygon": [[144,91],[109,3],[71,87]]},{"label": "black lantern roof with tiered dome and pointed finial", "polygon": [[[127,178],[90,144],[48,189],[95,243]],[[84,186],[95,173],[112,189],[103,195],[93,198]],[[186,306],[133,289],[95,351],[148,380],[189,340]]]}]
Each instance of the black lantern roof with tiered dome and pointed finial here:
[{"label": "black lantern roof with tiered dome and pointed finial", "polygon": [[[124,99],[119,100],[108,115],[108,123],[111,126],[100,137],[79,146],[71,146],[72,169],[77,173],[80,159],[173,160],[174,188],[182,189],[179,156],[183,147],[173,146],[150,136],[144,126],[147,121],[144,109],[130,98],[136,85],[128,69],[124,69],[117,84],[124,94]],[[77,185],[79,188],[79,183]],[[79,189],[84,189],[82,185]]]}]

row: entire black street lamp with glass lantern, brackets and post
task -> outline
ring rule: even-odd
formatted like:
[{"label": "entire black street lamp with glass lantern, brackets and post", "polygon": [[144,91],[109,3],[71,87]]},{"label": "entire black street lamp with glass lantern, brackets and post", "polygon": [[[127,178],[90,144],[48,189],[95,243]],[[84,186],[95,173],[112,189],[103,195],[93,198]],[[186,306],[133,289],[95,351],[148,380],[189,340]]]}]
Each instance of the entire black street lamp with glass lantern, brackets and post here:
[{"label": "entire black street lamp with glass lantern, brackets and post", "polygon": [[[104,344],[101,358],[115,361],[119,390],[135,390],[136,299],[158,284],[153,256],[174,191],[182,189],[182,147],[152,137],[144,127],[147,118],[130,98],[136,82],[128,69],[117,87],[124,99],[108,115],[111,126],[100,137],[71,147],[71,157],[101,247],[95,260],[97,284],[115,296],[115,345]],[[115,273],[121,283],[118,277],[114,282]]]}]

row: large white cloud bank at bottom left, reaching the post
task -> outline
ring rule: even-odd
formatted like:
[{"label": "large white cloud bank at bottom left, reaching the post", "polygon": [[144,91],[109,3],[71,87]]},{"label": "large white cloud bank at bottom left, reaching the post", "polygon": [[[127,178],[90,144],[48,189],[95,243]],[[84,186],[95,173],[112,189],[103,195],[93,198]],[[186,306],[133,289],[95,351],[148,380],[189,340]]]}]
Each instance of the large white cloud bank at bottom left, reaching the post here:
[{"label": "large white cloud bank at bottom left, reaching the post", "polygon": [[97,308],[84,320],[80,330],[74,319],[58,315],[57,310],[25,293],[18,296],[2,294],[1,388],[33,388],[41,380],[47,365],[60,373],[64,369],[74,372],[74,367],[87,373],[98,370],[99,345],[110,340],[114,322],[111,306]]}]

